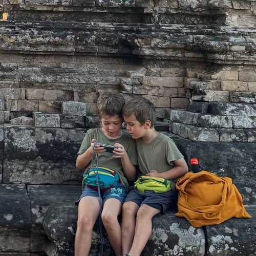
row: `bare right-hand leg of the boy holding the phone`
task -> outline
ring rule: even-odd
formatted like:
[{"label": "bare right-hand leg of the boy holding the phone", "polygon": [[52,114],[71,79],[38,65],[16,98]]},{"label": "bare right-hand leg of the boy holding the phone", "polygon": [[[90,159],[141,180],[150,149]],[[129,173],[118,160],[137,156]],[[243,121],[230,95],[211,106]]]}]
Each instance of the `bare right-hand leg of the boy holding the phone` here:
[{"label": "bare right-hand leg of the boy holding the phone", "polygon": [[105,201],[101,219],[108,233],[110,244],[115,251],[116,256],[122,255],[121,247],[121,227],[118,222],[118,215],[121,212],[122,204],[119,200],[110,198]]}]

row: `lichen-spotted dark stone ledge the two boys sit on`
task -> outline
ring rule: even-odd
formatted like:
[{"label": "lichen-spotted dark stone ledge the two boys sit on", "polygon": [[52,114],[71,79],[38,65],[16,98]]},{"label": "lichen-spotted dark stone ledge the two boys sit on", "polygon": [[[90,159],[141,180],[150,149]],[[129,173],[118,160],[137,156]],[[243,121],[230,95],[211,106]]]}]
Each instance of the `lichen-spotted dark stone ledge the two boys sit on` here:
[{"label": "lichen-spotted dark stone ledge the two boys sit on", "polygon": [[[74,236],[77,222],[77,206],[74,202],[80,197],[80,185],[28,185],[26,190],[25,186],[0,184],[0,190],[1,192],[4,191],[1,195],[6,195],[0,199],[1,205],[4,206],[1,207],[1,210],[4,210],[3,216],[5,217],[3,218],[4,221],[0,222],[0,230],[7,239],[0,245],[0,255],[17,255],[13,249],[20,246],[19,242],[23,242],[24,248],[23,254],[18,254],[21,256],[42,256],[44,252],[48,256],[74,255]],[[26,197],[23,195],[24,191],[26,191]],[[13,205],[14,201],[10,201],[10,197],[16,200],[15,205]],[[11,205],[10,202],[12,202]],[[20,215],[21,209],[22,215]],[[250,205],[246,207],[246,210],[252,215],[252,219],[232,218],[219,225],[206,226],[209,256],[217,254],[251,255],[250,252],[255,251],[256,207]],[[13,213],[13,220],[16,220],[15,222],[12,220],[12,226],[16,230],[8,227],[8,230],[3,231],[3,227],[8,226],[11,213]],[[23,222],[19,220],[23,220]],[[26,231],[27,237],[22,237],[24,235],[23,230]],[[15,232],[15,244],[13,244],[8,238],[12,238]],[[106,237],[106,233],[104,233],[104,237]],[[28,246],[29,242],[30,247]],[[98,255],[98,243],[99,230],[98,223],[96,223],[90,252],[92,256]],[[16,250],[20,250],[20,248],[16,248]],[[142,255],[167,255],[176,254],[179,251],[184,256],[203,256],[204,250],[203,229],[194,228],[184,218],[178,218],[174,212],[168,212],[153,218],[152,236]],[[108,239],[106,239],[104,256],[113,255]]]}]

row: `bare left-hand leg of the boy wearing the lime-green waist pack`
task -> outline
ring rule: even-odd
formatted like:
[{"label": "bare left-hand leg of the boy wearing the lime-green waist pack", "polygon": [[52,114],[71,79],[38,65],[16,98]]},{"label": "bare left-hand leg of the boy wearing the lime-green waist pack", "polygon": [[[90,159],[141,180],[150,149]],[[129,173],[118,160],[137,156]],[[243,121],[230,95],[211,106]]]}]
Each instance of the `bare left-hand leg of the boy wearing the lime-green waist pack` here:
[{"label": "bare left-hand leg of the boy wearing the lime-green waist pack", "polygon": [[134,202],[125,202],[122,207],[122,251],[128,253],[132,247],[136,225],[136,215],[139,205]]}]

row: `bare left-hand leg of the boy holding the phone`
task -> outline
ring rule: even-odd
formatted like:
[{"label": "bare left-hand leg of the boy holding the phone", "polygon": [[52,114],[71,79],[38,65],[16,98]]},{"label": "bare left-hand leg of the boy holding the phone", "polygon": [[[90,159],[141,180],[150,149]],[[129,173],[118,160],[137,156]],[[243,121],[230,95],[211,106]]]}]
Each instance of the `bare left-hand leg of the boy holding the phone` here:
[{"label": "bare left-hand leg of the boy holding the phone", "polygon": [[98,198],[83,197],[78,205],[78,220],[75,237],[75,256],[89,255],[92,243],[92,230],[98,216]]}]

